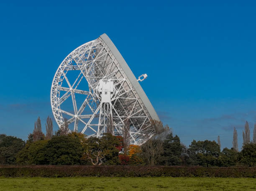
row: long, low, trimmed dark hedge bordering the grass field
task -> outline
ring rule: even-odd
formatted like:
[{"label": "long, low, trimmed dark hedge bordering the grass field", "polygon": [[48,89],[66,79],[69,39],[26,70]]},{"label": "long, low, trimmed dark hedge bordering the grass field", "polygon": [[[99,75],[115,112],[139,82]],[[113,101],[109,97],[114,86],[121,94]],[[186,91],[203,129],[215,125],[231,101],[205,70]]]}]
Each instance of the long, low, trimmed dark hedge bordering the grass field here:
[{"label": "long, low, trimmed dark hedge bordering the grass field", "polygon": [[256,167],[188,166],[0,166],[5,177],[74,176],[172,176],[172,177],[253,177]]}]

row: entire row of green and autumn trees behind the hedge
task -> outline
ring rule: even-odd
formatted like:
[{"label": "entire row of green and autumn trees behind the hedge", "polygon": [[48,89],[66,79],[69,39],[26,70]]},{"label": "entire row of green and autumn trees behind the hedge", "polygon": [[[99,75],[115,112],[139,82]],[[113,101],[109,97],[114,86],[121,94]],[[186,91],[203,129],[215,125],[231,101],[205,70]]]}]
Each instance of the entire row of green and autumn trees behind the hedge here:
[{"label": "entire row of green and autumn trees behind the hedge", "polygon": [[[156,136],[142,146],[129,145],[128,133],[101,138],[70,133],[68,123],[53,135],[52,121],[46,121],[46,136],[41,131],[41,120],[35,122],[33,133],[23,141],[13,136],[0,135],[0,163],[2,164],[84,164],[84,165],[190,165],[235,166],[256,165],[256,144],[243,144],[220,151],[220,138],[215,141],[192,141],[188,148],[168,126],[151,121]],[[125,136],[127,134],[127,136]]]}]

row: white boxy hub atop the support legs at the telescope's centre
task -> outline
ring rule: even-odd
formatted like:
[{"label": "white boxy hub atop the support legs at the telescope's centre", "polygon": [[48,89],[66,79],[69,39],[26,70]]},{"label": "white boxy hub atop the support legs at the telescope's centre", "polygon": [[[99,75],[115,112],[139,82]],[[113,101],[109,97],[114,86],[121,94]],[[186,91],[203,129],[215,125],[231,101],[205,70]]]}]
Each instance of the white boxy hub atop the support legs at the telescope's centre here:
[{"label": "white boxy hub atop the support legs at the telescope's centre", "polygon": [[114,83],[111,80],[100,80],[98,93],[102,103],[111,103],[111,98],[114,95]]}]

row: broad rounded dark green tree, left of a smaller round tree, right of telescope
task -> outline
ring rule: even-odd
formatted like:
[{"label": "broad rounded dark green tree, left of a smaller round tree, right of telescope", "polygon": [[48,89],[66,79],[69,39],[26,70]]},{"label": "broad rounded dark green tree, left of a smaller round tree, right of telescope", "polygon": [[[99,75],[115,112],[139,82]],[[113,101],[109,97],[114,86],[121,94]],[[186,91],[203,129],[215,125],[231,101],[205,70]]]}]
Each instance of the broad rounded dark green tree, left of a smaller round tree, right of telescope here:
[{"label": "broad rounded dark green tree, left of a smaller round tree, right of telescope", "polygon": [[189,163],[200,166],[216,166],[220,146],[215,141],[195,141],[189,145]]}]

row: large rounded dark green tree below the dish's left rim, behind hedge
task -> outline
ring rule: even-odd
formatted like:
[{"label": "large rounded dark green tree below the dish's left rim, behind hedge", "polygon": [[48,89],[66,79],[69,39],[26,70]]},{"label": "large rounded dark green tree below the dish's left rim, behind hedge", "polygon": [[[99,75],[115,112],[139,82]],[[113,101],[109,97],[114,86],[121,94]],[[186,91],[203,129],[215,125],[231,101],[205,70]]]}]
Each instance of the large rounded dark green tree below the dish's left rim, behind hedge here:
[{"label": "large rounded dark green tree below the dish's left rim, behind hedge", "polygon": [[45,153],[49,164],[74,165],[80,164],[83,147],[76,136],[54,136],[46,144]]}]

